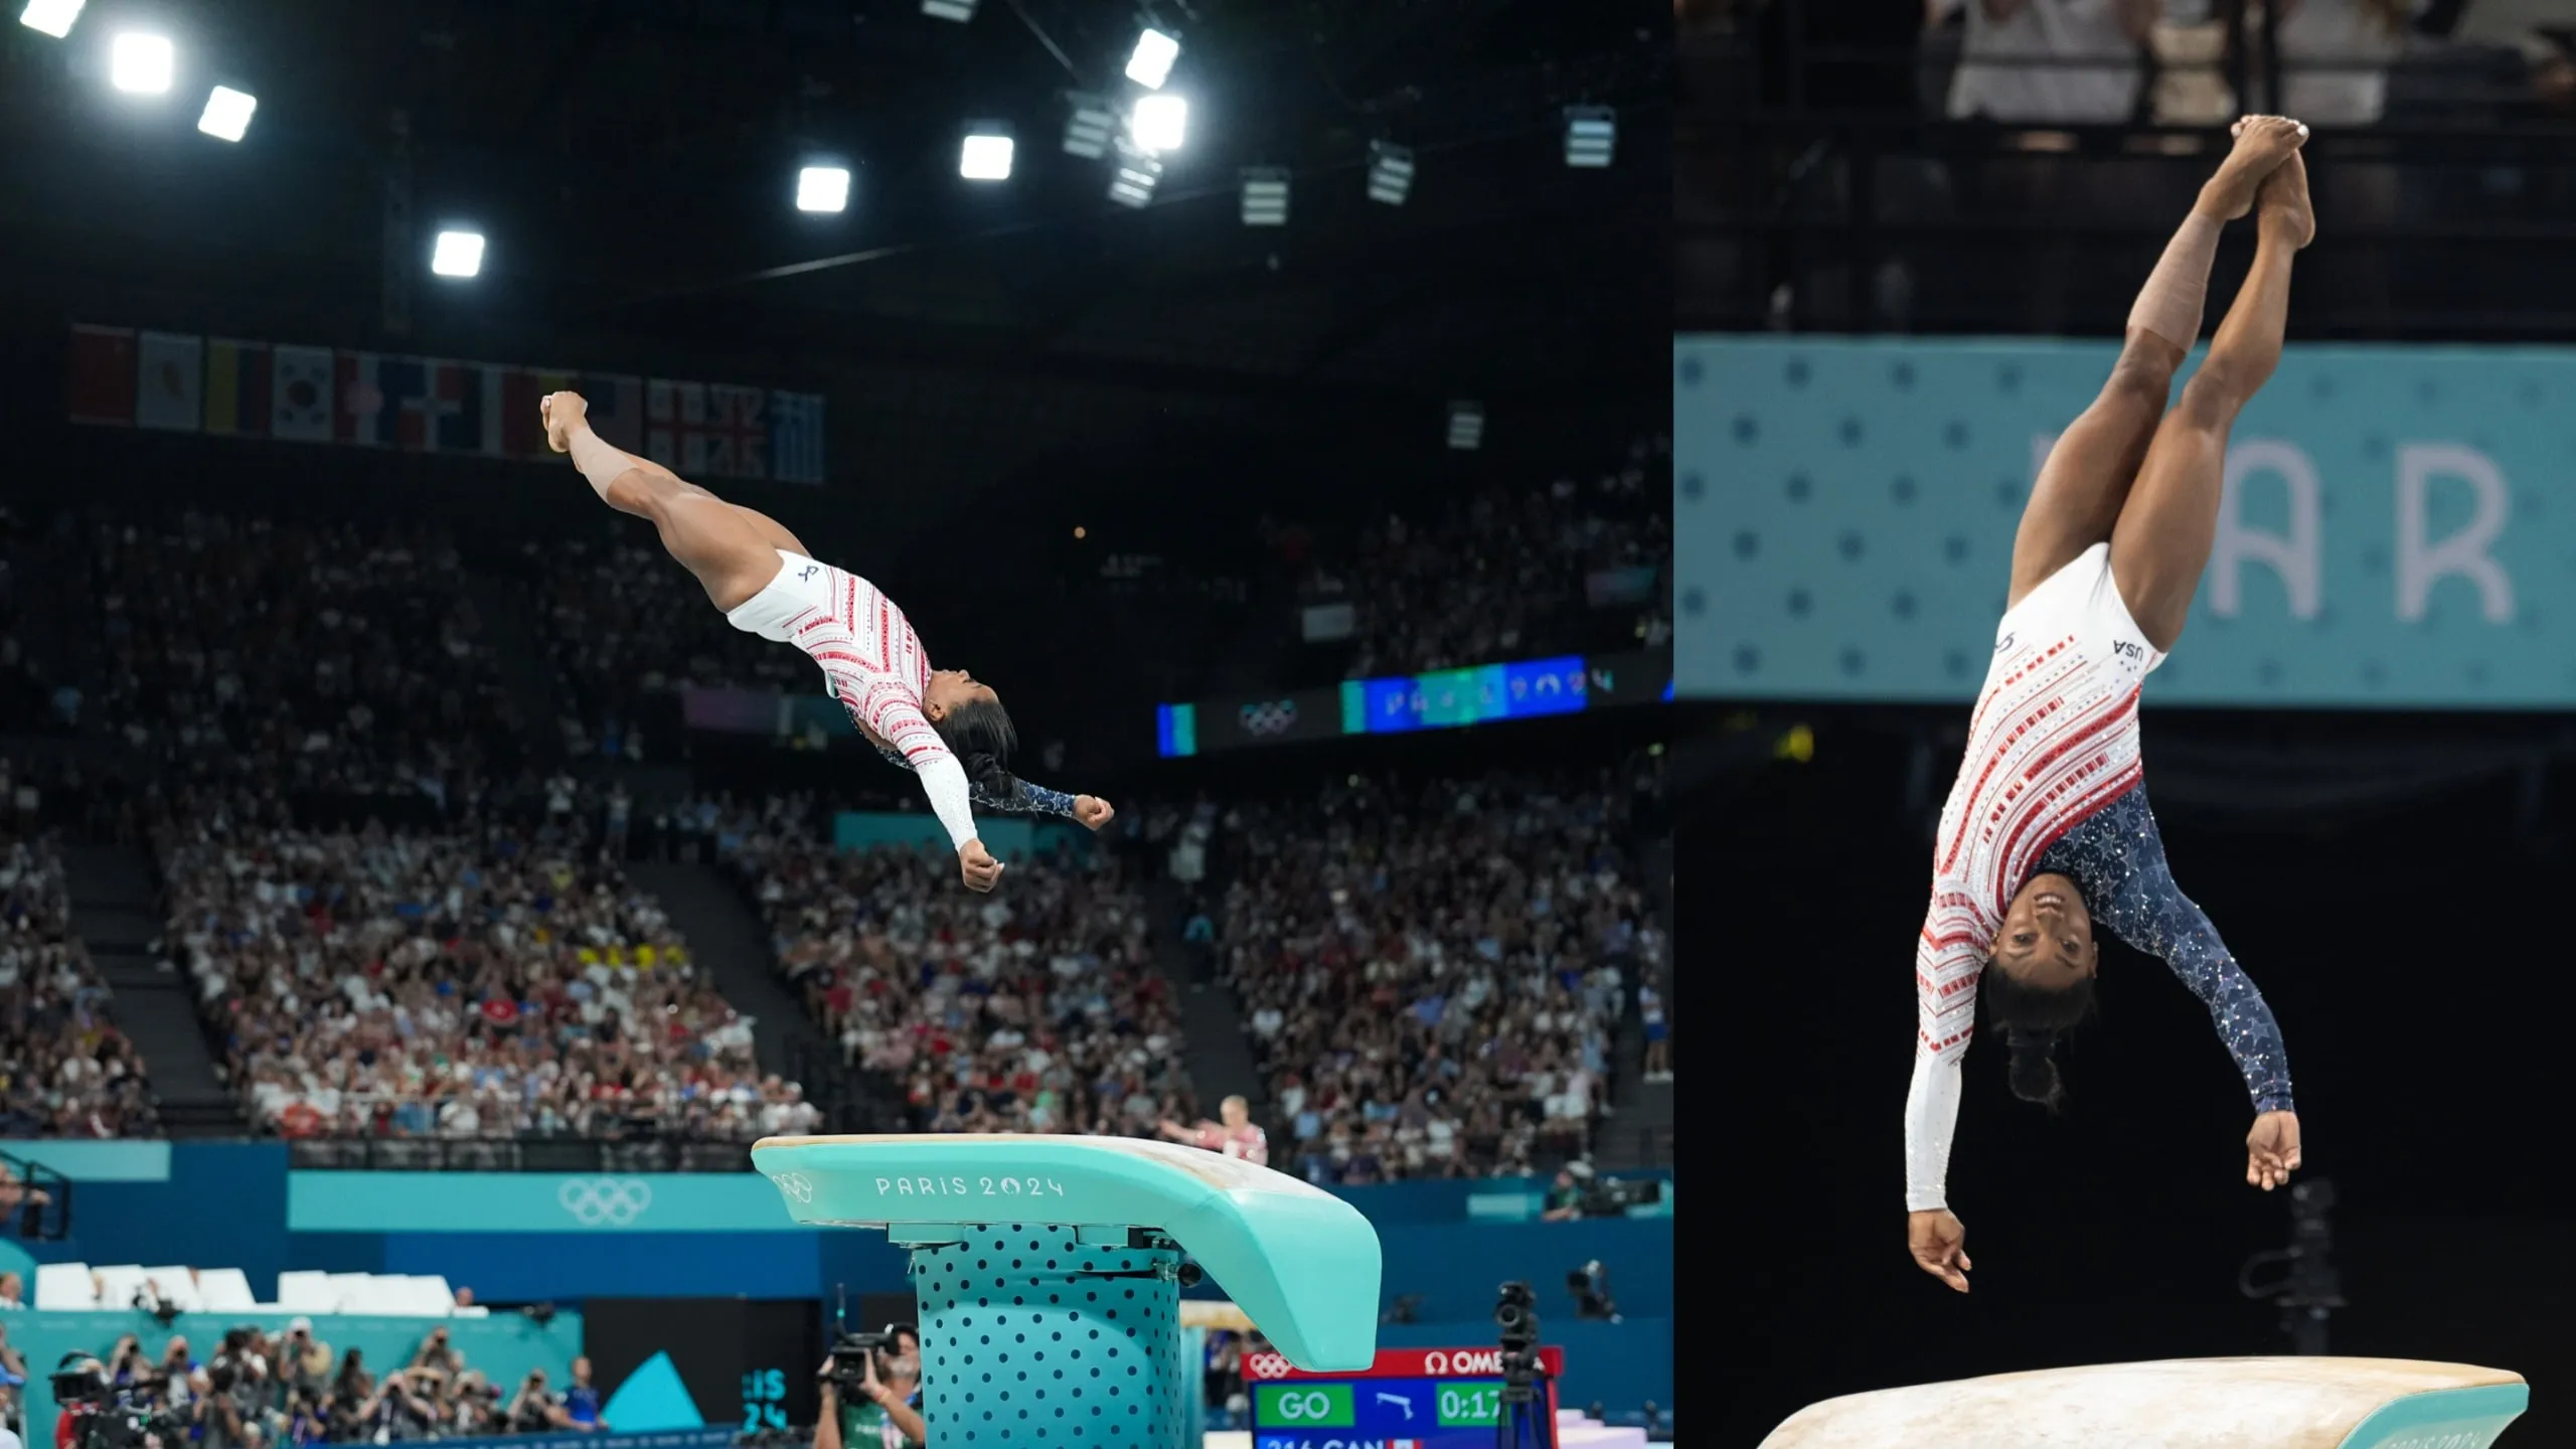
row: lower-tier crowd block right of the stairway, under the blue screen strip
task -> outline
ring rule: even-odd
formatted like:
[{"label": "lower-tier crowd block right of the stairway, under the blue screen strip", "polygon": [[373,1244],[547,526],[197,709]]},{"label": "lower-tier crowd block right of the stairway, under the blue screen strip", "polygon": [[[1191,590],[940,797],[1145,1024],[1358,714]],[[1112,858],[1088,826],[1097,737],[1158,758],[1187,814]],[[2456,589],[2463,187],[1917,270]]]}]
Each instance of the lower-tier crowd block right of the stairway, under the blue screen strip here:
[{"label": "lower-tier crowd block right of the stairway, under the blue screen strip", "polygon": [[1664,938],[1600,779],[1394,784],[1203,807],[1206,923],[1311,1181],[1530,1173],[1607,1111],[1628,982]]}]

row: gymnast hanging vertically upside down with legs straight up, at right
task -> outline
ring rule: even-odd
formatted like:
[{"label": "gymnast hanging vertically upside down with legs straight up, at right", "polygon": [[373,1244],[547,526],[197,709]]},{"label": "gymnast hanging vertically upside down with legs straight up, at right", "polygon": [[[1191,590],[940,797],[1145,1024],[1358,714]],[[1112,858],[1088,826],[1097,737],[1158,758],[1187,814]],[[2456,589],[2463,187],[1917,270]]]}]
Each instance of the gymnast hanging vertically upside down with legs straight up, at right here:
[{"label": "gymnast hanging vertically upside down with legs straight up, at right", "polygon": [[[1994,665],[1940,815],[1914,949],[1906,1240],[1914,1263],[1958,1292],[1965,1227],[1945,1178],[1976,998],[2009,1044],[2012,1093],[2056,1106],[2056,1042],[2094,1003],[2094,923],[2208,1003],[2254,1098],[2246,1181],[2269,1191],[2300,1165],[2272,1008],[2174,884],[2138,763],[2138,688],[2182,634],[2218,534],[2228,425],[2280,364],[2290,263],[2316,237],[2298,155],[2308,129],[2246,116],[2233,134],[2128,315],[2110,382],[2030,490]],[[2246,211],[2254,271],[2166,410],[2200,335],[2218,232]]]}]

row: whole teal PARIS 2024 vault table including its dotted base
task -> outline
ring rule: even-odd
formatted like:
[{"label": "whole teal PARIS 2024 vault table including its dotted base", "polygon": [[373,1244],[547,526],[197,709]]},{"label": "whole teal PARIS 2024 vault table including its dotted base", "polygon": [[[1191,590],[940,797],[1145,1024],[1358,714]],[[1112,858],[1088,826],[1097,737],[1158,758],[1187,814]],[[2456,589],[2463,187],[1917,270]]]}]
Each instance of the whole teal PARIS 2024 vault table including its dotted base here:
[{"label": "whole teal PARIS 2024 vault table including its dotted base", "polygon": [[930,1449],[1198,1449],[1182,1253],[1301,1369],[1378,1351],[1378,1232],[1236,1158],[1133,1137],[768,1137],[788,1217],[912,1248]]}]

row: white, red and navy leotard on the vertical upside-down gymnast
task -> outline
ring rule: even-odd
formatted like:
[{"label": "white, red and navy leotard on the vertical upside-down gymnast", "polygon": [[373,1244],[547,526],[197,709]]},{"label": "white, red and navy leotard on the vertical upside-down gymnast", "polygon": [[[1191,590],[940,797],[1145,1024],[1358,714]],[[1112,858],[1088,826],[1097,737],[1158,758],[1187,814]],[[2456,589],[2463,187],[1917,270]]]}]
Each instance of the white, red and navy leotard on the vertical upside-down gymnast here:
[{"label": "white, red and navy leotard on the vertical upside-down gymnast", "polygon": [[2254,1111],[2293,1111],[2272,1011],[2210,918],[2174,884],[2146,804],[2138,688],[2161,663],[2120,601],[2110,544],[2094,544],[2032,588],[1994,632],[1994,665],[1942,807],[1932,908],[1914,946],[1909,1212],[1947,1204],[1976,977],[2012,897],[2043,871],[2074,879],[2094,920],[2159,957],[2208,1003]]}]

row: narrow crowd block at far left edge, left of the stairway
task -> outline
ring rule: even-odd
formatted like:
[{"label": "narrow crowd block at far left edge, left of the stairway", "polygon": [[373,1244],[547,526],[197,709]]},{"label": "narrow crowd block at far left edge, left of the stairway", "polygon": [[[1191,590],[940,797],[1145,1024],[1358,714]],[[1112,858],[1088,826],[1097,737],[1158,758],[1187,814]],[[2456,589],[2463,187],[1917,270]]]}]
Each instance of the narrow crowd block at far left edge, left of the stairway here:
[{"label": "narrow crowd block at far left edge, left of the stairway", "polygon": [[155,1129],[144,1060],[72,933],[59,851],[41,835],[0,835],[0,1137]]}]

